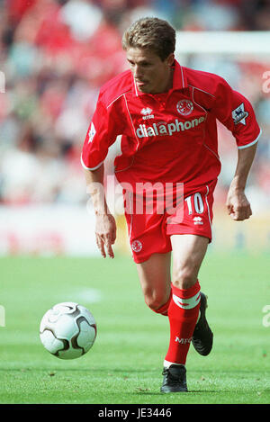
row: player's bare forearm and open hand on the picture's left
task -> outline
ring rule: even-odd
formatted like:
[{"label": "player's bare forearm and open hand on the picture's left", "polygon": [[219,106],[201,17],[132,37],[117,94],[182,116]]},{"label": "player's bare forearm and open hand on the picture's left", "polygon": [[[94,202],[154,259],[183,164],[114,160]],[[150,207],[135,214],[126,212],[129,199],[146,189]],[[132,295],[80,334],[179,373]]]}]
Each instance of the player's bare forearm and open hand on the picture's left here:
[{"label": "player's bare forearm and open hand on the picture's left", "polygon": [[110,212],[103,186],[104,166],[85,170],[87,193],[90,193],[95,215],[95,239],[101,255],[114,257],[112,245],[116,238],[116,223]]}]

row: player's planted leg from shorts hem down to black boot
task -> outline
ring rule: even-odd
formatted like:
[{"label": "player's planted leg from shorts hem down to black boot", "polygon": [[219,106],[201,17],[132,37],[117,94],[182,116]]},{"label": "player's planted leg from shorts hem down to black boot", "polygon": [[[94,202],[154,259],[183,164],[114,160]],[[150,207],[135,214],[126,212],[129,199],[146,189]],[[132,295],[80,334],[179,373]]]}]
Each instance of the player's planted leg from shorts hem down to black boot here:
[{"label": "player's planted leg from shorts hem down to black boot", "polygon": [[185,362],[200,310],[198,273],[205,256],[208,238],[174,235],[172,301],[168,308],[170,342],[164,362],[162,392],[187,391]]}]

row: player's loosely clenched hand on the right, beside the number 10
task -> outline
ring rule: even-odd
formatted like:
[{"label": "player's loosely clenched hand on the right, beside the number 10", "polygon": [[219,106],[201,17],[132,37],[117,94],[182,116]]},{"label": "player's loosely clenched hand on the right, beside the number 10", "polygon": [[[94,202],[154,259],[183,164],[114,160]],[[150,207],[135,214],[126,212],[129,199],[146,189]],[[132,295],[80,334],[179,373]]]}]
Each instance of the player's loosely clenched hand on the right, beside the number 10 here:
[{"label": "player's loosely clenched hand on the right, beside the number 10", "polygon": [[252,215],[250,203],[242,190],[229,189],[226,206],[232,220],[243,221]]}]

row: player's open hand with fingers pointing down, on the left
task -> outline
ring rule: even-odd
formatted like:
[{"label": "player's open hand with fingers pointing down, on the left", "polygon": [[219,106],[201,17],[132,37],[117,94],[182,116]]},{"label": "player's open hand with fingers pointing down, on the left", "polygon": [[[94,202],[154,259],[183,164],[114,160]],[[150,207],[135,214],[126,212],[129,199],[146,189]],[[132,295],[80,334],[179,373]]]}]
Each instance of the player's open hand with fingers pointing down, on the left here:
[{"label": "player's open hand with fingers pointing down, on the left", "polygon": [[116,223],[112,214],[97,214],[95,220],[95,239],[101,255],[114,258],[112,245],[116,238]]}]

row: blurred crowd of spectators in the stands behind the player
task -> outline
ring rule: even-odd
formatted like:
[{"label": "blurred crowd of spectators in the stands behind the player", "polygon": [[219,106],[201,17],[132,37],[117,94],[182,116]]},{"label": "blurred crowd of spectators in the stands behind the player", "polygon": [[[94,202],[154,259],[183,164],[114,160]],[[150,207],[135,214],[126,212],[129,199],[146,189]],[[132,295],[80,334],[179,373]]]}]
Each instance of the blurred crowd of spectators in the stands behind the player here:
[{"label": "blurred crowd of spectators in the stands behind the player", "polygon": [[[148,15],[168,20],[177,31],[270,30],[267,0],[0,0],[2,205],[85,204],[80,154],[99,88],[127,68],[122,32]],[[228,76],[253,103],[263,135],[249,186],[258,203],[266,203],[270,94],[262,85],[270,58],[192,56],[184,65]],[[235,157],[227,139],[228,131],[220,128],[224,161],[218,201],[224,199]]]}]

